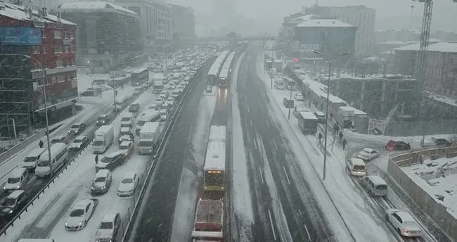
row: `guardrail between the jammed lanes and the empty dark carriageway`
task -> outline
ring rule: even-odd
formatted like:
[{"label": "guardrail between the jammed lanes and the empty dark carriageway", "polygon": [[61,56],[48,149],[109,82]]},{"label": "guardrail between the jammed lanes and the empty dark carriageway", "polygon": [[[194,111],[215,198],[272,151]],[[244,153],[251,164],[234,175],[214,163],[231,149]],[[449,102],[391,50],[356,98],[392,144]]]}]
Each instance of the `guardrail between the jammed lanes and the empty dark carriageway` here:
[{"label": "guardrail between the jammed lanes and the empty dark carriageway", "polygon": [[184,103],[184,100],[186,100],[188,92],[193,88],[193,85],[195,84],[195,79],[197,79],[197,77],[200,75],[202,70],[205,69],[205,67],[207,65],[208,65],[208,61],[207,61],[207,63],[205,63],[205,65],[202,66],[202,68],[200,68],[200,70],[198,70],[198,72],[193,77],[192,82],[190,82],[190,85],[188,87],[186,87],[184,94],[181,97],[181,100],[179,101],[178,106],[176,106],[176,110],[174,110],[173,117],[170,119],[170,122],[168,123],[167,127],[165,128],[165,132],[162,132],[160,145],[157,148],[155,155],[153,155],[150,158],[150,160],[148,160],[148,165],[150,165],[150,167],[148,168],[148,173],[146,174],[146,180],[144,181],[143,186],[141,187],[140,196],[139,196],[139,199],[136,200],[134,210],[130,214],[129,223],[127,224],[127,229],[124,231],[124,236],[122,236],[122,241],[127,241],[127,239],[129,238],[129,236],[131,234],[131,229],[133,229],[133,225],[134,225],[134,221],[135,221],[134,217],[136,217],[136,215],[138,215],[139,208],[141,207],[141,201],[143,200],[143,197],[145,196],[146,189],[148,188],[148,184],[152,177],[151,175],[153,174],[155,165],[157,164],[155,161],[157,158],[160,157],[160,153],[162,153],[162,149],[164,148],[165,143],[167,143],[167,137],[174,125],[176,116],[181,111],[182,104]]}]

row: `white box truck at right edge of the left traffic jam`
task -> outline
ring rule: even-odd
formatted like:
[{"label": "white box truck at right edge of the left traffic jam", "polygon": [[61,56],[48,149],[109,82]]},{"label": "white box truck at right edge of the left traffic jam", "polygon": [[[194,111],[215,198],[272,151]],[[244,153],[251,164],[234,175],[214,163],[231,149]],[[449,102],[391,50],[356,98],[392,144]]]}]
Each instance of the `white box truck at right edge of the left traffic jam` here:
[{"label": "white box truck at right edge of the left traffic jam", "polygon": [[160,138],[160,122],[146,122],[140,130],[138,144],[141,155],[153,154],[158,146]]}]

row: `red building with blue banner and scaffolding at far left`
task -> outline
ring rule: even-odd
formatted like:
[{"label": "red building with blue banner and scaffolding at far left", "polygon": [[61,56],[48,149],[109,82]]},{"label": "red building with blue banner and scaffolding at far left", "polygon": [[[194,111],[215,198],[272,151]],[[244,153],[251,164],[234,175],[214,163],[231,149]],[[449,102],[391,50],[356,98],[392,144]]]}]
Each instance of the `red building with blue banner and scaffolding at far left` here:
[{"label": "red building with blue banner and scaffolding at far left", "polygon": [[0,6],[2,134],[8,134],[10,127],[5,124],[12,120],[17,132],[44,125],[44,83],[51,123],[75,113],[76,25],[48,14],[46,8],[29,9]]}]

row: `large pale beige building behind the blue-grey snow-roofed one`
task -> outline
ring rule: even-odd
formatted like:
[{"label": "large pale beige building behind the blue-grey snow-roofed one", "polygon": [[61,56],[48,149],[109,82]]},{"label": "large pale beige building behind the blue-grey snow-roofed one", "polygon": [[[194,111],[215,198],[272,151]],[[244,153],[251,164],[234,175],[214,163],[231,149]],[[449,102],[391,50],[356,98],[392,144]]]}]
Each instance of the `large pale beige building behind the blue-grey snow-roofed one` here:
[{"label": "large pale beige building behind the blue-grey snow-roofed one", "polygon": [[336,18],[357,27],[356,54],[373,53],[375,49],[376,11],[366,6],[312,6],[305,9],[307,14],[315,14],[325,18]]}]

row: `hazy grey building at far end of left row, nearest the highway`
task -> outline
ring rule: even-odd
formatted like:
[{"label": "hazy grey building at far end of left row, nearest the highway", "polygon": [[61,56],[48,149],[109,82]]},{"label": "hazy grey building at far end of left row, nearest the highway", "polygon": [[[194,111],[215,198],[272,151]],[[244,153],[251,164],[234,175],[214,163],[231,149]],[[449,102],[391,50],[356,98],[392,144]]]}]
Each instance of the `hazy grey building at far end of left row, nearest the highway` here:
[{"label": "hazy grey building at far end of left row, nearest the highway", "polygon": [[172,8],[174,49],[191,47],[195,39],[195,15],[193,8],[176,4],[168,5]]}]

